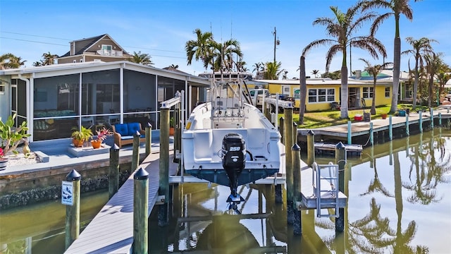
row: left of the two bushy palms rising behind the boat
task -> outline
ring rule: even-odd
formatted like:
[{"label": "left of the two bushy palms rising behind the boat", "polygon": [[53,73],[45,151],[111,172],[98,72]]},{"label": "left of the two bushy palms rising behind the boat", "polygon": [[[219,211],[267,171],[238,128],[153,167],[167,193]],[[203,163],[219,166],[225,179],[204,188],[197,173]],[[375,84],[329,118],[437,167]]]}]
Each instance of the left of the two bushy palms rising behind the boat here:
[{"label": "left of the two bushy palms rising behind the boat", "polygon": [[209,64],[213,65],[213,62],[209,61],[211,55],[211,45],[213,40],[213,34],[211,32],[202,32],[199,28],[194,30],[194,34],[197,35],[196,40],[189,40],[185,44],[185,51],[187,56],[187,65],[191,65],[192,58],[199,61],[202,60],[204,68],[208,68]]}]

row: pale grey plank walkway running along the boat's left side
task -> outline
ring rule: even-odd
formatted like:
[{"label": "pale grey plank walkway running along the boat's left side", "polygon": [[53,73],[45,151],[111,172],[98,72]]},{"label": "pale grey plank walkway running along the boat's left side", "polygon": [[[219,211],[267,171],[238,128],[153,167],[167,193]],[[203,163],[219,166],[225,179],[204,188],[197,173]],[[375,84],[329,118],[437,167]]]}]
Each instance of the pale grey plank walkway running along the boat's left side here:
[{"label": "pale grey plank walkway running along the boat's left side", "polygon": [[[152,153],[140,165],[149,173],[149,215],[158,197],[158,159],[159,153]],[[177,166],[170,163],[169,174],[175,174]],[[65,253],[130,253],[133,243],[133,181],[131,174]]]}]

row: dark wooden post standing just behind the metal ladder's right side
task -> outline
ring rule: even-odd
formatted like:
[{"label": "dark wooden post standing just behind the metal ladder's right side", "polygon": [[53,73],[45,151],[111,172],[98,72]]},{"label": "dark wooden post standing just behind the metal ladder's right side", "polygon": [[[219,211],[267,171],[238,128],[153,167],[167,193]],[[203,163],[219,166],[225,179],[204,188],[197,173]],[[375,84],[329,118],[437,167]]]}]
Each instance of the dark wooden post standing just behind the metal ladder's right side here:
[{"label": "dark wooden post standing just behind the metal ladder's right side", "polygon": [[[335,146],[335,164],[338,164],[338,191],[345,193],[346,148],[341,142]],[[335,231],[342,232],[345,230],[345,208],[338,208],[338,214]]]}]

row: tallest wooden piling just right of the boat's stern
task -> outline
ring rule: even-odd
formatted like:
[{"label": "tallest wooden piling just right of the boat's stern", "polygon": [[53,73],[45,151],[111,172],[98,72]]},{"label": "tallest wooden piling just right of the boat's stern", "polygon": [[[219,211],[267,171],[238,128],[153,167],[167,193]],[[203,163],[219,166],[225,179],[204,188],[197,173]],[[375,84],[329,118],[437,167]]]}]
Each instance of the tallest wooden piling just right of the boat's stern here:
[{"label": "tallest wooden piling just right of the boat's stern", "polygon": [[[291,147],[293,146],[293,110],[285,109],[283,114],[285,116],[284,120],[284,128],[285,128],[285,174],[286,174],[286,184],[287,184],[287,207],[292,207],[293,200],[293,169],[292,169],[292,156],[291,156]],[[287,222],[288,224],[292,224],[292,210],[287,209],[288,216]]]}]

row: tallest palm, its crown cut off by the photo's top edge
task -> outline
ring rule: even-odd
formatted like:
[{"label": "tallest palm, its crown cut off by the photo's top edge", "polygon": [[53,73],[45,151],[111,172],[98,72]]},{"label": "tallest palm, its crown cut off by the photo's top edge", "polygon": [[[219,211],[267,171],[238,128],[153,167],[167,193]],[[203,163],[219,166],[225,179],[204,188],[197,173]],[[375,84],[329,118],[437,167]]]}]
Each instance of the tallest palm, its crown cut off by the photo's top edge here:
[{"label": "tallest palm, its crown cut off by the photo's top edge", "polygon": [[[417,0],[414,0],[417,1]],[[418,0],[419,1],[419,0]],[[403,14],[410,21],[413,19],[413,11],[409,5],[409,0],[369,0],[364,1],[362,10],[371,8],[388,8],[390,12],[378,16],[371,25],[371,35],[375,35],[381,23],[395,16],[395,42],[393,53],[393,96],[390,113],[397,110],[397,94],[400,89],[400,64],[401,64],[401,39],[400,39],[400,16]]]}]

